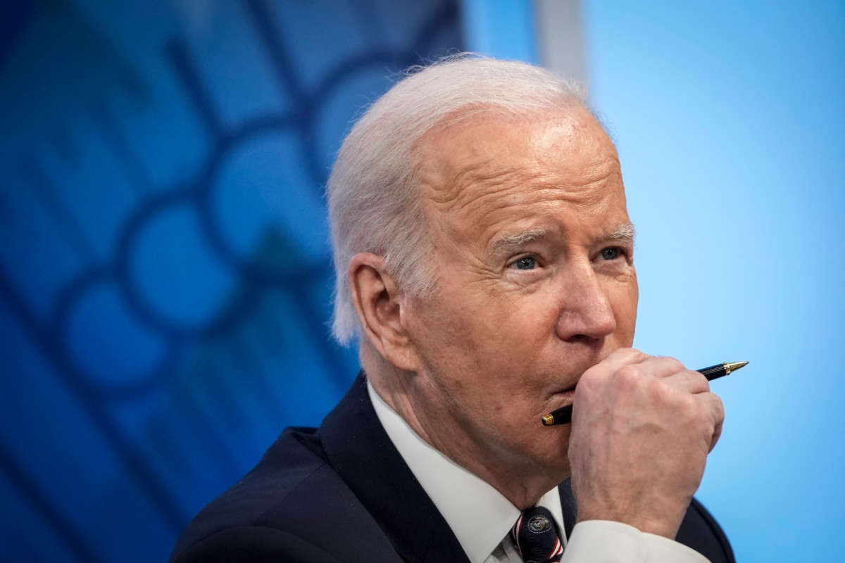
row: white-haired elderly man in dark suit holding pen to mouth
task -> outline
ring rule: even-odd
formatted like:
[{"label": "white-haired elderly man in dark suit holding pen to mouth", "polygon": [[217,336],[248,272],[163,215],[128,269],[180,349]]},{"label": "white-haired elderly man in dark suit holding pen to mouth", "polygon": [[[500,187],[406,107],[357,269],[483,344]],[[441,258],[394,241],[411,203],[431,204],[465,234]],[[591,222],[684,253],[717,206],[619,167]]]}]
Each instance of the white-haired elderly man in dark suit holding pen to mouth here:
[{"label": "white-haired elderly man in dark suit holding pen to mouth", "polygon": [[693,499],[722,403],[630,348],[634,227],[577,89],[520,62],[417,69],[352,128],[328,195],[335,337],[362,376],[174,560],[733,560]]}]

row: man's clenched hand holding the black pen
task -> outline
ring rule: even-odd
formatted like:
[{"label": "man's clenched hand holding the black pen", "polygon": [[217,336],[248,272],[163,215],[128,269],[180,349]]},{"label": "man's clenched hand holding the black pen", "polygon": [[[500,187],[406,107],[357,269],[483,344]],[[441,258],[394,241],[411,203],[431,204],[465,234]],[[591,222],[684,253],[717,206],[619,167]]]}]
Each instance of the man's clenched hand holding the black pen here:
[{"label": "man's clenched hand holding the black pen", "polygon": [[570,434],[578,520],[674,539],[722,432],[722,401],[679,360],[618,349],[575,389]]}]

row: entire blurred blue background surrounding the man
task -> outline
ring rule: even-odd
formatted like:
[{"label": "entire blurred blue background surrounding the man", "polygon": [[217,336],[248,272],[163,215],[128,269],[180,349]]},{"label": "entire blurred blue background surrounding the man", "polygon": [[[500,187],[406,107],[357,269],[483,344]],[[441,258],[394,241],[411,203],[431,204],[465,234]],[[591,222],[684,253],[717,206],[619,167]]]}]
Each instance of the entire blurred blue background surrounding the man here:
[{"label": "entire blurred blue background surrounding the man", "polygon": [[357,373],[323,185],[455,51],[589,85],[635,345],[750,360],[699,497],[739,561],[842,560],[845,4],[42,0],[0,8],[0,560],[165,560]]}]

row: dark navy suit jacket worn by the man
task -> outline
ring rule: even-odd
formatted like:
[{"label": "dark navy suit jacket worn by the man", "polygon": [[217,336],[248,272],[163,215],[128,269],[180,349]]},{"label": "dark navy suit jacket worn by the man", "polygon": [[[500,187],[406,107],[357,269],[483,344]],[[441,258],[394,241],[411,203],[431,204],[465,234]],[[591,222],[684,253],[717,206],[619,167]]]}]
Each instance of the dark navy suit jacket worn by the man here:
[{"label": "dark navy suit jacket worn by the man", "polygon": [[[569,535],[575,500],[559,487]],[[678,540],[733,563],[722,529],[693,501]],[[318,429],[288,428],[173,549],[194,561],[467,561],[461,544],[384,432],[359,376]]]}]

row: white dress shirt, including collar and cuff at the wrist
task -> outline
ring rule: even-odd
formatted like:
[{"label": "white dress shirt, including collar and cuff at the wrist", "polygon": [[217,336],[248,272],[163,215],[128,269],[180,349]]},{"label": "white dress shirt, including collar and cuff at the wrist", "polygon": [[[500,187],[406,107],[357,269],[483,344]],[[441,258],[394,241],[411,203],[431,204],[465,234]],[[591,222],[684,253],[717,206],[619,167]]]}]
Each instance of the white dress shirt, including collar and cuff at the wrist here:
[{"label": "white dress shirt, including collar and cuff at the wrist", "polygon": [[[510,538],[510,528],[520,509],[498,490],[462,468],[417,436],[367,382],[373,408],[390,441],[437,506],[471,563],[522,563]],[[537,503],[545,506],[561,536],[564,517],[558,489],[548,491]],[[561,563],[708,563],[706,557],[684,544],[633,526],[608,520],[575,524],[565,543]]]}]

